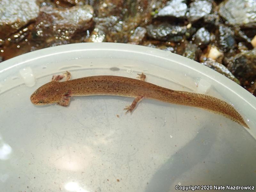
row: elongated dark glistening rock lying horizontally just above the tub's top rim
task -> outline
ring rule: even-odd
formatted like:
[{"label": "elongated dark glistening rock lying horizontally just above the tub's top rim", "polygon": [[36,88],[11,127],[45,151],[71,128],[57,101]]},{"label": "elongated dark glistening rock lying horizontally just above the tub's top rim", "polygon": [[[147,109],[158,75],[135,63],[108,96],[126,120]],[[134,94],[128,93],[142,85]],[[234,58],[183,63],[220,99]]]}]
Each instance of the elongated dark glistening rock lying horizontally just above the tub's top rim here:
[{"label": "elongated dark glistening rock lying horizontally just above the tub's top rim", "polygon": [[147,26],[147,34],[149,37],[174,42],[189,38],[195,33],[195,30],[194,27],[187,28],[186,26],[170,25],[168,23]]}]

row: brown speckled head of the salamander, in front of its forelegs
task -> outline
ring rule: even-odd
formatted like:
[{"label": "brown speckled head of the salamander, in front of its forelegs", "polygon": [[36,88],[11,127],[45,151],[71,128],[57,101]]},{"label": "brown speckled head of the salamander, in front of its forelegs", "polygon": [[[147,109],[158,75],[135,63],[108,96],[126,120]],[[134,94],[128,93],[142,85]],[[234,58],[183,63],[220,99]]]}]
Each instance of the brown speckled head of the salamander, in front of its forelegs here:
[{"label": "brown speckled head of the salamander, in front of its forelegs", "polygon": [[34,105],[46,105],[61,100],[62,93],[58,88],[58,82],[51,81],[39,87],[30,97]]}]

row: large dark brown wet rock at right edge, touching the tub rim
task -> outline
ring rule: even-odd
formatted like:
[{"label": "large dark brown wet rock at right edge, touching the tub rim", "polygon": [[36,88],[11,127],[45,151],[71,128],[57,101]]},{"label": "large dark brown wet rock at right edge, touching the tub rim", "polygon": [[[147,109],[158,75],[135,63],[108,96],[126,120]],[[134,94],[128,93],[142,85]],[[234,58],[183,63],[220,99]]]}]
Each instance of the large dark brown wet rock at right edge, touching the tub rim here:
[{"label": "large dark brown wet rock at right edge, touching the tub rim", "polygon": [[238,53],[228,62],[228,69],[244,85],[256,79],[256,48]]}]

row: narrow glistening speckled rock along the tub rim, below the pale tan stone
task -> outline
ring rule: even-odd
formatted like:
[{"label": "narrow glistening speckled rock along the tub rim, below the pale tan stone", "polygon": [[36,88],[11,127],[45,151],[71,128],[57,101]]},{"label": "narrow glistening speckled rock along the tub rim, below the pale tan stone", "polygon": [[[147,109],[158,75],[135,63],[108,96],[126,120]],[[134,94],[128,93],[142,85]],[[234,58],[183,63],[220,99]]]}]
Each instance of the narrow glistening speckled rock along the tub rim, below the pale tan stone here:
[{"label": "narrow glistening speckled rock along the tub rim, below the pale tan stone", "polygon": [[222,75],[225,75],[226,77],[228,77],[232,81],[236,82],[237,84],[240,84],[239,80],[228,70],[228,68],[226,68],[224,65],[218,63],[217,61],[208,58],[202,64],[209,68],[212,68],[213,70],[221,73]]}]

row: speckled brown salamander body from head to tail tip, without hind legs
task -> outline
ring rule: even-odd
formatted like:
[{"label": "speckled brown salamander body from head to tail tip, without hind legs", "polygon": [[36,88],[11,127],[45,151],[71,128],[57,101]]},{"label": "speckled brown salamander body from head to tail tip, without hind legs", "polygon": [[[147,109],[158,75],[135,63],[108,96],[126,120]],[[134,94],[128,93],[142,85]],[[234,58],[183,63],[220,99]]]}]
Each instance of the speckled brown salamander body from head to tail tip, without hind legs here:
[{"label": "speckled brown salamander body from head to tail tip, without hind legs", "polygon": [[225,101],[198,93],[173,91],[145,81],[121,76],[90,76],[64,82],[52,81],[38,88],[31,95],[30,100],[35,105],[57,103],[68,106],[71,96],[86,95],[143,97],[203,108],[226,116],[249,128],[235,108]]}]

